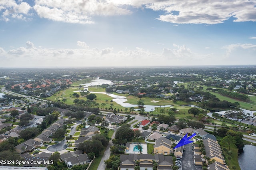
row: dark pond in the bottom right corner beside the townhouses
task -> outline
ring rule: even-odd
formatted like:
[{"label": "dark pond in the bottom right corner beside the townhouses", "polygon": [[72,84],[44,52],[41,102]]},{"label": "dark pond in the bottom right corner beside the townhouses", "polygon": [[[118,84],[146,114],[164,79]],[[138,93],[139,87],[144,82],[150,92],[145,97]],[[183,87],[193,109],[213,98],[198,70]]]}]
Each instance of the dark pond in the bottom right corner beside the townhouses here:
[{"label": "dark pond in the bottom right corner beside the townhouses", "polygon": [[246,144],[238,157],[241,170],[255,170],[256,146]]}]

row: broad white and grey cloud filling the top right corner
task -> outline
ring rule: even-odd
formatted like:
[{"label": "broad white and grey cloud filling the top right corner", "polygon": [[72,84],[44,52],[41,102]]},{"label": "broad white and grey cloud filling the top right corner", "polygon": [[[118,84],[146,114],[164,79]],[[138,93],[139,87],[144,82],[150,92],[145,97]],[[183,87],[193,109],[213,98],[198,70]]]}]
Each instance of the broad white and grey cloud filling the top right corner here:
[{"label": "broad white and grey cloud filling the top right corner", "polygon": [[256,21],[255,0],[156,0],[145,6],[164,11],[159,20],[177,24],[219,24],[232,17],[234,22]]}]

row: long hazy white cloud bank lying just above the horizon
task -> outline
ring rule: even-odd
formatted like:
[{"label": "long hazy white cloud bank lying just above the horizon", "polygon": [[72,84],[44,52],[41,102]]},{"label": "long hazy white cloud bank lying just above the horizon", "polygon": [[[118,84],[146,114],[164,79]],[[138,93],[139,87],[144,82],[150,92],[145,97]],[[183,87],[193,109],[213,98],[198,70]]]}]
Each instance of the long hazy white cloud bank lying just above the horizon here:
[{"label": "long hazy white cloud bank lying just above the horizon", "polygon": [[[208,54],[198,54],[186,45],[173,44],[164,48],[160,53],[154,53],[148,49],[136,47],[114,51],[113,47],[103,49],[90,48],[84,42],[77,42],[86,48],[54,49],[37,47],[27,41],[26,47],[5,50],[0,47],[0,67],[111,67],[111,66],[163,66],[163,65],[207,65],[219,64],[220,57],[216,57],[212,51]],[[79,46],[79,47],[80,47]],[[231,53],[236,48],[256,49],[253,44],[232,44],[223,47]],[[219,55],[221,56],[221,55]],[[236,60],[236,64],[250,62],[243,56],[242,61]],[[249,56],[250,57],[250,56]],[[199,62],[200,61],[200,62]],[[215,62],[215,63],[214,63]]]}]

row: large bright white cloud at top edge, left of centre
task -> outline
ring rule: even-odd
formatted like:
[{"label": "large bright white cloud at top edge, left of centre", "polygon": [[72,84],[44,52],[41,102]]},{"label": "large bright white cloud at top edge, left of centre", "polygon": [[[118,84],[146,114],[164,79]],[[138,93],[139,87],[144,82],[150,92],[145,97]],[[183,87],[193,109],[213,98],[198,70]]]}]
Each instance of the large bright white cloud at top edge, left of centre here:
[{"label": "large bright white cloud at top edge, left of centre", "polygon": [[69,23],[92,24],[92,16],[130,14],[109,0],[36,0],[34,10],[41,18]]}]

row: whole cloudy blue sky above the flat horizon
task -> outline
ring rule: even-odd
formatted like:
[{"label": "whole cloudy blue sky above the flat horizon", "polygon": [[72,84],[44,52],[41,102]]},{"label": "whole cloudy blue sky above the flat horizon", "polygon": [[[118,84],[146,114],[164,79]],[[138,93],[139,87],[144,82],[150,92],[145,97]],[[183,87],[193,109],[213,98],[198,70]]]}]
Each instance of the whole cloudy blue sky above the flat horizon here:
[{"label": "whole cloudy blue sky above the flat horizon", "polygon": [[256,0],[0,0],[0,67],[256,64]]}]

